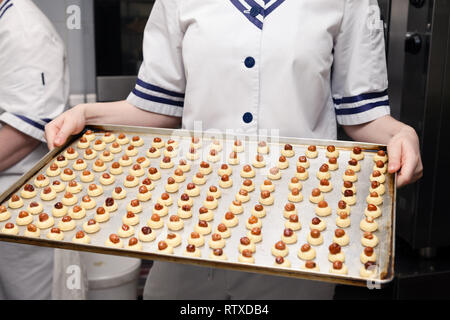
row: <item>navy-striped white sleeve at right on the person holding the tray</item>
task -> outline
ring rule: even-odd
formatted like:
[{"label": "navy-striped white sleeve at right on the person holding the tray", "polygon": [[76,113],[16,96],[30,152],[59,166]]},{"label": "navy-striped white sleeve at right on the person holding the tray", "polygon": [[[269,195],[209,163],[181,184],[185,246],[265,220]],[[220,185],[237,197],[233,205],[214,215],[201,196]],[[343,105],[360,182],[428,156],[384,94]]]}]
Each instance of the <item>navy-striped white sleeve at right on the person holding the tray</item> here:
[{"label": "navy-striped white sleeve at right on the person holding the tray", "polygon": [[383,24],[377,0],[346,0],[335,40],[332,94],[337,121],[357,125],[390,114]]}]

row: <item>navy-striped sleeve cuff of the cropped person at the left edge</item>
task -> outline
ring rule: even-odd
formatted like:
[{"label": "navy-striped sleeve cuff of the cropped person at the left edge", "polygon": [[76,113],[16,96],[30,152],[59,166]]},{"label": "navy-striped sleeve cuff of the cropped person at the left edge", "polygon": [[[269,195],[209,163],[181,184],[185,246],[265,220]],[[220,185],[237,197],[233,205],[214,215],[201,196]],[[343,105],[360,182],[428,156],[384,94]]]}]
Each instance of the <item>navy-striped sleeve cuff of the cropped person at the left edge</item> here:
[{"label": "navy-striped sleeve cuff of the cropped person at the left edge", "polygon": [[44,120],[4,112],[0,115],[0,121],[36,140],[46,142],[44,134],[46,122]]}]

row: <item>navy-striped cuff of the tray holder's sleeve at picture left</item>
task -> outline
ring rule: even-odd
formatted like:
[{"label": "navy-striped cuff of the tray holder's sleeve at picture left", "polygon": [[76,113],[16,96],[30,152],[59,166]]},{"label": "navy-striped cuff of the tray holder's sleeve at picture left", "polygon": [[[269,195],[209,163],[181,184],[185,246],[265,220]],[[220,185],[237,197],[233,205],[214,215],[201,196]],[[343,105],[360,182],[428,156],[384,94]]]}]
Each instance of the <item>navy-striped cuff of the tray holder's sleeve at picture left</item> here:
[{"label": "navy-striped cuff of the tray holder's sleeve at picture left", "polygon": [[173,117],[183,115],[183,93],[163,89],[139,78],[127,101],[145,111]]}]

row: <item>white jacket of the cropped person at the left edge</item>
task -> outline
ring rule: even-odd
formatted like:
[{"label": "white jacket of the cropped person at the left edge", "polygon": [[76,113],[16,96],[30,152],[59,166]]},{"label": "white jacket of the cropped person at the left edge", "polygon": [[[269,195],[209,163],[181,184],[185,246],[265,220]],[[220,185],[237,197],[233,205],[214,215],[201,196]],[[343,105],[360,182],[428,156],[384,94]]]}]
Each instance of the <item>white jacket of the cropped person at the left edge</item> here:
[{"label": "white jacket of the cropped person at the left edge", "polygon": [[[33,2],[3,0],[0,4],[0,123],[45,142],[45,124],[66,108],[69,73],[65,57],[61,38]],[[38,147],[0,176],[17,180],[46,152],[45,145]]]}]

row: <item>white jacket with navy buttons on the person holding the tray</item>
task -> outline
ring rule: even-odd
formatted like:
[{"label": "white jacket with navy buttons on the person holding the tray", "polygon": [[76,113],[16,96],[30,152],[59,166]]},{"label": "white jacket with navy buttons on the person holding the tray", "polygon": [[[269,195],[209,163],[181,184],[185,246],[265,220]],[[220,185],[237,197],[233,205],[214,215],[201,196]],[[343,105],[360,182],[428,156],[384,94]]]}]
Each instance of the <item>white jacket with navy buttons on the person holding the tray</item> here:
[{"label": "white jacket with navy buttons on the person holding the tray", "polygon": [[204,130],[335,139],[336,122],[390,113],[377,9],[376,0],[157,0],[128,101],[187,129],[201,120]]}]

